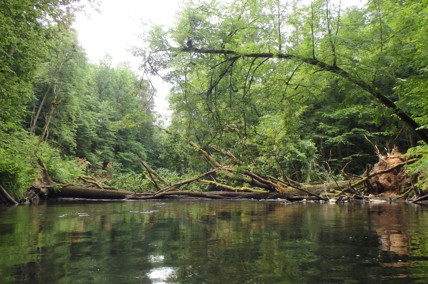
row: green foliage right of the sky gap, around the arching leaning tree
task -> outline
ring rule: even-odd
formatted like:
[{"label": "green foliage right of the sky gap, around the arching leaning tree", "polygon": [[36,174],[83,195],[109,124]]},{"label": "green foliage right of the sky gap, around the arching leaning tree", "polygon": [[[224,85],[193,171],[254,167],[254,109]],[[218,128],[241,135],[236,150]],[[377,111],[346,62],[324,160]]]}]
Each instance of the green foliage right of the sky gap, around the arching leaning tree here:
[{"label": "green foliage right of the sky gap, around the arching leaning tree", "polygon": [[[184,141],[314,181],[362,173],[377,159],[371,143],[415,145],[418,129],[398,117],[426,126],[426,40],[414,32],[425,30],[425,14],[420,3],[389,0],[346,10],[338,1],[195,1],[135,54],[147,72],[168,69],[170,130]],[[183,142],[164,141],[171,166],[201,171]]]}]

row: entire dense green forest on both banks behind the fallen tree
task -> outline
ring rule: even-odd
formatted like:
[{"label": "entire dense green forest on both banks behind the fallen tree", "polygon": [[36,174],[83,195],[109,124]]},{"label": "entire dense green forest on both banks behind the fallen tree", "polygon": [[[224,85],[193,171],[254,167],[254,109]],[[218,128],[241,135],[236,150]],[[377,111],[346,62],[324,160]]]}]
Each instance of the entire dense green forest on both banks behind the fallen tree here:
[{"label": "entire dense green forest on both banks behind the fallen tree", "polygon": [[[108,55],[88,63],[72,28],[82,9],[0,3],[2,202],[83,183],[133,194],[337,183],[393,148],[426,191],[423,1],[186,1],[173,27],[141,31],[144,77]],[[152,76],[173,86],[168,125]]]}]

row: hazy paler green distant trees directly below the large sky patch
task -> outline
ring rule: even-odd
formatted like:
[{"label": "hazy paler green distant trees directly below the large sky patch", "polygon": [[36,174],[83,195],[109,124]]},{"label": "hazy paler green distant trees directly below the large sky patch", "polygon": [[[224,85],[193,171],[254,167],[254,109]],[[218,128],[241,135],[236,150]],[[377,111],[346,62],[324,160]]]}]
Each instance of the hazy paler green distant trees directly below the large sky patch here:
[{"label": "hazy paler green distant trees directly below the large sky patch", "polygon": [[111,67],[110,56],[92,65],[76,117],[76,155],[93,169],[113,162],[116,170],[142,170],[135,155],[156,161],[150,88],[126,64]]}]

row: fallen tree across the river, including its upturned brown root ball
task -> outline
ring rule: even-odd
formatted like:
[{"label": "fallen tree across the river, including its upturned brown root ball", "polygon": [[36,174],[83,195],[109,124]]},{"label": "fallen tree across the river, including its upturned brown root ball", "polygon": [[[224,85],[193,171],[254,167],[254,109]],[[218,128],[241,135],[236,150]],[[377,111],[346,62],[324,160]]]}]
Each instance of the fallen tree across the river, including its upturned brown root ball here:
[{"label": "fallen tree across the river, including its upturned brown root ball", "polygon": [[[54,182],[42,162],[42,178],[39,184],[34,185],[34,192],[42,198],[79,198],[94,200],[156,200],[156,199],[284,199],[289,201],[314,200],[330,201],[335,198],[337,202],[350,201],[352,199],[367,199],[363,196],[364,192],[373,193],[374,186],[379,193],[379,180],[383,180],[382,175],[390,174],[392,177],[399,178],[400,184],[403,184],[403,166],[410,164],[417,159],[404,160],[402,154],[391,153],[388,157],[380,157],[380,161],[373,167],[371,172],[366,173],[365,177],[358,180],[334,181],[319,184],[298,183],[285,177],[285,180],[261,174],[245,168],[244,165],[232,153],[214,148],[215,150],[227,155],[238,164],[222,165],[216,161],[207,151],[200,148],[196,143],[189,141],[189,145],[195,148],[202,157],[211,166],[211,169],[187,180],[176,183],[169,183],[165,178],[159,175],[145,161],[137,156],[147,170],[145,176],[153,185],[155,190],[142,188],[141,192],[131,192],[121,190],[120,188],[103,184],[99,180],[90,176],[80,176],[80,183],[57,183]],[[394,161],[385,163],[386,160]],[[379,166],[382,164],[382,166]],[[242,186],[231,186],[222,183],[220,180],[210,180],[212,173],[219,172],[220,176],[229,180],[239,181]],[[401,173],[401,174],[399,174]],[[386,180],[391,181],[391,176]],[[180,187],[190,184],[201,186],[213,186],[216,190],[209,192],[180,190]],[[397,188],[395,191],[398,193]],[[415,199],[420,196],[415,195]],[[420,198],[418,200],[423,200]]]}]

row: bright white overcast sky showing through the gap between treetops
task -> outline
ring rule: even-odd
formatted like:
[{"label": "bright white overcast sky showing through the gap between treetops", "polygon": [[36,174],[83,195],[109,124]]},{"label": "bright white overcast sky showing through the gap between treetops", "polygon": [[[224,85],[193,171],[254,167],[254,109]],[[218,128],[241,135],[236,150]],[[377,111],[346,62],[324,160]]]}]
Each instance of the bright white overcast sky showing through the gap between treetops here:
[{"label": "bright white overcast sky showing through the gap between treetops", "polygon": [[[221,0],[219,0],[221,1]],[[138,74],[140,60],[129,52],[130,47],[141,45],[138,35],[142,32],[142,21],[164,26],[172,26],[175,14],[179,11],[181,0],[100,0],[101,13],[87,9],[86,16],[79,13],[74,28],[79,35],[79,42],[86,50],[89,60],[97,63],[105,54],[113,57],[113,65],[128,61]],[[365,0],[342,0],[343,6],[363,6]],[[155,111],[165,121],[169,121],[166,97],[171,85],[153,78],[157,89]]]}]

